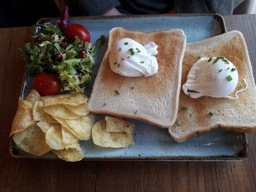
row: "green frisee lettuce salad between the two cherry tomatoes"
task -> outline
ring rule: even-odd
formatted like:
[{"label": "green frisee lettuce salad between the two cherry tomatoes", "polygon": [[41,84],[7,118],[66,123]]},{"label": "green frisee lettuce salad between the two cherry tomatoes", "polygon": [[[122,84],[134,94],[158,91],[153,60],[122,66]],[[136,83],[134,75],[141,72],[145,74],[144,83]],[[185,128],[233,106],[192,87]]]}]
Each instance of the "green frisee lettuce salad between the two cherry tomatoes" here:
[{"label": "green frisee lettuce salad between the two cherry tomatoes", "polygon": [[[21,45],[20,51],[24,60],[28,62],[27,73],[33,75],[38,72],[47,72],[58,77],[61,85],[60,92],[84,92],[86,82],[92,76],[92,67],[95,64],[93,55],[105,40],[102,35],[94,45],[83,42],[76,36],[73,43],[68,42],[60,28],[54,24],[36,24],[33,41]],[[61,43],[67,42],[66,47]],[[84,49],[83,58],[78,54]],[[54,55],[60,53],[62,60],[54,61]]]}]

